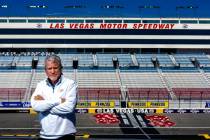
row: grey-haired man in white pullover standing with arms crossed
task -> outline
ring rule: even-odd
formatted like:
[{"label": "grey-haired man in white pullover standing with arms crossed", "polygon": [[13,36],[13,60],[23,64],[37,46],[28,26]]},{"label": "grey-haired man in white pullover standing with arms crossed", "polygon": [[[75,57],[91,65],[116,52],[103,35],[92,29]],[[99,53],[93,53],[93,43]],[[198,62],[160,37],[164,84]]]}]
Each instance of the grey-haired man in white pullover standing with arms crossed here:
[{"label": "grey-haired man in white pullover standing with arms crossed", "polygon": [[37,84],[31,97],[32,108],[39,112],[40,140],[75,139],[75,106],[77,84],[62,75],[60,57],[47,56],[45,73],[47,79]]}]

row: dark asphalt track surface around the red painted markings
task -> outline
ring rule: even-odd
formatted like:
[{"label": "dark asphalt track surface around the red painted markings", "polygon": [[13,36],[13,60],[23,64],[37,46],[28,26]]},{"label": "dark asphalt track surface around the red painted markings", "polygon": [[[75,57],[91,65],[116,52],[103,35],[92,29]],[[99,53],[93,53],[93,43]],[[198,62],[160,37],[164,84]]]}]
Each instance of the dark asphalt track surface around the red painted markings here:
[{"label": "dark asphalt track surface around the red painted markings", "polygon": [[[97,139],[98,136],[105,139],[110,138],[141,138],[155,139],[158,136],[175,138],[176,136],[192,136],[210,133],[210,115],[209,114],[161,114],[170,118],[175,123],[173,127],[152,127],[145,119],[145,115],[154,114],[136,114],[120,113],[117,114],[120,123],[99,124],[93,114],[77,114],[78,136],[88,134],[91,139]],[[142,118],[140,121],[139,118]],[[125,121],[127,120],[127,121]],[[37,115],[28,113],[1,113],[0,114],[0,139],[6,139],[2,136],[9,135],[36,135],[38,136],[40,125]],[[110,135],[111,134],[111,135]],[[16,138],[18,139],[18,138]]]}]

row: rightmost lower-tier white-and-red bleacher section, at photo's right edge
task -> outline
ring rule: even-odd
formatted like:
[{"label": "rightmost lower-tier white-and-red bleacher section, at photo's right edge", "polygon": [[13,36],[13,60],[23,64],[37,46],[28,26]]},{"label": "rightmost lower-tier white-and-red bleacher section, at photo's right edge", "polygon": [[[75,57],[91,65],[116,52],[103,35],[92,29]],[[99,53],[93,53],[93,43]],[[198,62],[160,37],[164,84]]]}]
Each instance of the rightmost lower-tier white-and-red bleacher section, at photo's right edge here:
[{"label": "rightmost lower-tier white-and-red bleacher section, at photo's right edge", "polygon": [[164,76],[179,99],[201,99],[201,97],[202,99],[209,99],[210,93],[207,91],[209,91],[210,86],[201,73],[174,72],[164,73]]}]

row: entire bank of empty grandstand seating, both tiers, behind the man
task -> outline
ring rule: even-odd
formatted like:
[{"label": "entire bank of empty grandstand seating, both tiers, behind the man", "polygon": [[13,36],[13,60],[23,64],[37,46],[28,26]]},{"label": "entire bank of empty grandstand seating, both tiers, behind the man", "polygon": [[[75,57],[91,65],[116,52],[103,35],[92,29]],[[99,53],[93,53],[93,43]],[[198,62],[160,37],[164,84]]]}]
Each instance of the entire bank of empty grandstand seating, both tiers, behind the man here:
[{"label": "entire bank of empty grandstand seating, both tiers, behind the man", "polygon": [[[91,53],[61,53],[59,56],[63,62],[64,75],[78,82],[78,101],[120,101],[123,90],[126,90],[126,97],[130,101],[171,100],[168,89],[172,89],[177,99],[210,100],[210,73],[204,69],[203,74],[199,70],[210,66],[209,56],[205,54],[171,55],[180,64],[180,68],[176,69],[168,54],[134,54],[133,58],[130,54],[97,53],[95,59],[98,67],[93,67],[94,59]],[[113,57],[119,61],[118,72],[113,67]],[[154,67],[153,57],[158,59],[158,69],[161,71]],[[39,55],[38,68],[31,83],[28,83],[32,75],[30,71],[32,58],[30,55],[0,56],[1,101],[22,101],[26,91],[32,93],[37,83],[46,78],[43,69],[45,55]],[[73,71],[72,68],[74,58],[79,62],[77,71]],[[198,60],[199,68],[195,67],[191,58]],[[136,59],[139,67],[132,67],[133,59]],[[22,69],[10,69],[8,66],[13,61]],[[26,90],[29,84],[31,90]]]}]

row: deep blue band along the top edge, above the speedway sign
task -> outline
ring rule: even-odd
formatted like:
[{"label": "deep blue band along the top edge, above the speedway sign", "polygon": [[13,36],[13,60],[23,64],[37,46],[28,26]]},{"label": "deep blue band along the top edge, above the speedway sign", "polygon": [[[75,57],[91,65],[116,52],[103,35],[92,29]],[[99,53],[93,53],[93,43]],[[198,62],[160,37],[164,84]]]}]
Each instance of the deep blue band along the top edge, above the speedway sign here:
[{"label": "deep blue band along the top edge, above the speedway sign", "polygon": [[1,0],[0,17],[210,18],[210,0]]}]

